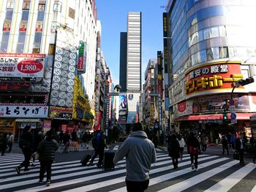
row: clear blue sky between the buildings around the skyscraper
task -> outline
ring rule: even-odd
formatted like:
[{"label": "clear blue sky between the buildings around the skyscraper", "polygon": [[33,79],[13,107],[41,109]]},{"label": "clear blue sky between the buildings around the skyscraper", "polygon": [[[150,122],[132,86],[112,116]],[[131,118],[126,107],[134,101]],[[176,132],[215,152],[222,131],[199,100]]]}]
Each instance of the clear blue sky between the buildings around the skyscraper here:
[{"label": "clear blue sky between the buildings around the skyscraper", "polygon": [[141,77],[150,58],[162,50],[162,12],[167,0],[96,0],[97,20],[102,24],[102,52],[114,84],[119,82],[120,32],[127,31],[127,13],[142,12]]}]

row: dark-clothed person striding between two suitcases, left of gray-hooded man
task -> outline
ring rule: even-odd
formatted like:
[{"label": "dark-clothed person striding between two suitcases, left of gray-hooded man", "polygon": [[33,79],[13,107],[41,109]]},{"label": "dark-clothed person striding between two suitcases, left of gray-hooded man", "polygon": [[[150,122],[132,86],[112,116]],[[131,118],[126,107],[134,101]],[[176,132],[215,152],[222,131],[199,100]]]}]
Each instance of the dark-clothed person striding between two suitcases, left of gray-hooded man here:
[{"label": "dark-clothed person striding between two suitcases, left of gray-hooded man", "polygon": [[94,155],[91,158],[90,166],[94,164],[94,159],[99,155],[99,161],[97,167],[102,167],[102,161],[104,156],[104,148],[107,147],[105,144],[104,131],[100,131],[96,135],[96,143],[94,145]]}]

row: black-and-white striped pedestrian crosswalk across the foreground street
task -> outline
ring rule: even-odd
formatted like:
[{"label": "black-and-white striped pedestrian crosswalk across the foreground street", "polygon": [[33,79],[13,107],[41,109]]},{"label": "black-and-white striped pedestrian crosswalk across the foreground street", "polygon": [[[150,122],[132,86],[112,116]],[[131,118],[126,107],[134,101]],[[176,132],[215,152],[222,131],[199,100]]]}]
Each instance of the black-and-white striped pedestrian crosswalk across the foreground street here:
[{"label": "black-and-white striped pedestrian crosswalk across the foreground street", "polygon": [[[7,153],[0,157],[0,191],[126,191],[125,160],[114,170],[97,166],[80,166],[80,161],[57,162],[52,167],[50,186],[39,184],[39,162],[29,172],[15,172],[23,161],[22,154]],[[172,169],[170,157],[157,150],[147,191],[256,191],[256,166],[240,166],[231,158],[203,154],[198,158],[197,172],[192,171],[189,155],[184,155],[178,169]],[[246,185],[246,188],[244,188]]]}]

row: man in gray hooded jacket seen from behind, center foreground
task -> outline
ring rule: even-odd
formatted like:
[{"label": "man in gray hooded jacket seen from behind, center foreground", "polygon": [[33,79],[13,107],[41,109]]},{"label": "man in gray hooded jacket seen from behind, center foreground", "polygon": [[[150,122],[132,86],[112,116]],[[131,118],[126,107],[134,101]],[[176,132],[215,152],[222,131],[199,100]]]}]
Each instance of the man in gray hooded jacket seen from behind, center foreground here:
[{"label": "man in gray hooded jacket seen from behind, center foreground", "polygon": [[133,124],[132,134],[116,151],[113,163],[117,164],[124,157],[127,161],[127,191],[145,191],[149,184],[149,169],[157,161],[157,155],[141,123]]}]

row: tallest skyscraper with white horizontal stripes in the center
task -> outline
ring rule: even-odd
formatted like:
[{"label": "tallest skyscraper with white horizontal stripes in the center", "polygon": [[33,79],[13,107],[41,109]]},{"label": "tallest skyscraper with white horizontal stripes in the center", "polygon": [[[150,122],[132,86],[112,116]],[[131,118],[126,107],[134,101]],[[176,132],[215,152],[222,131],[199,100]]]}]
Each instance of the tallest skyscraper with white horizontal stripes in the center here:
[{"label": "tallest skyscraper with white horizontal stripes in the center", "polygon": [[128,12],[127,91],[141,90],[141,12]]}]

